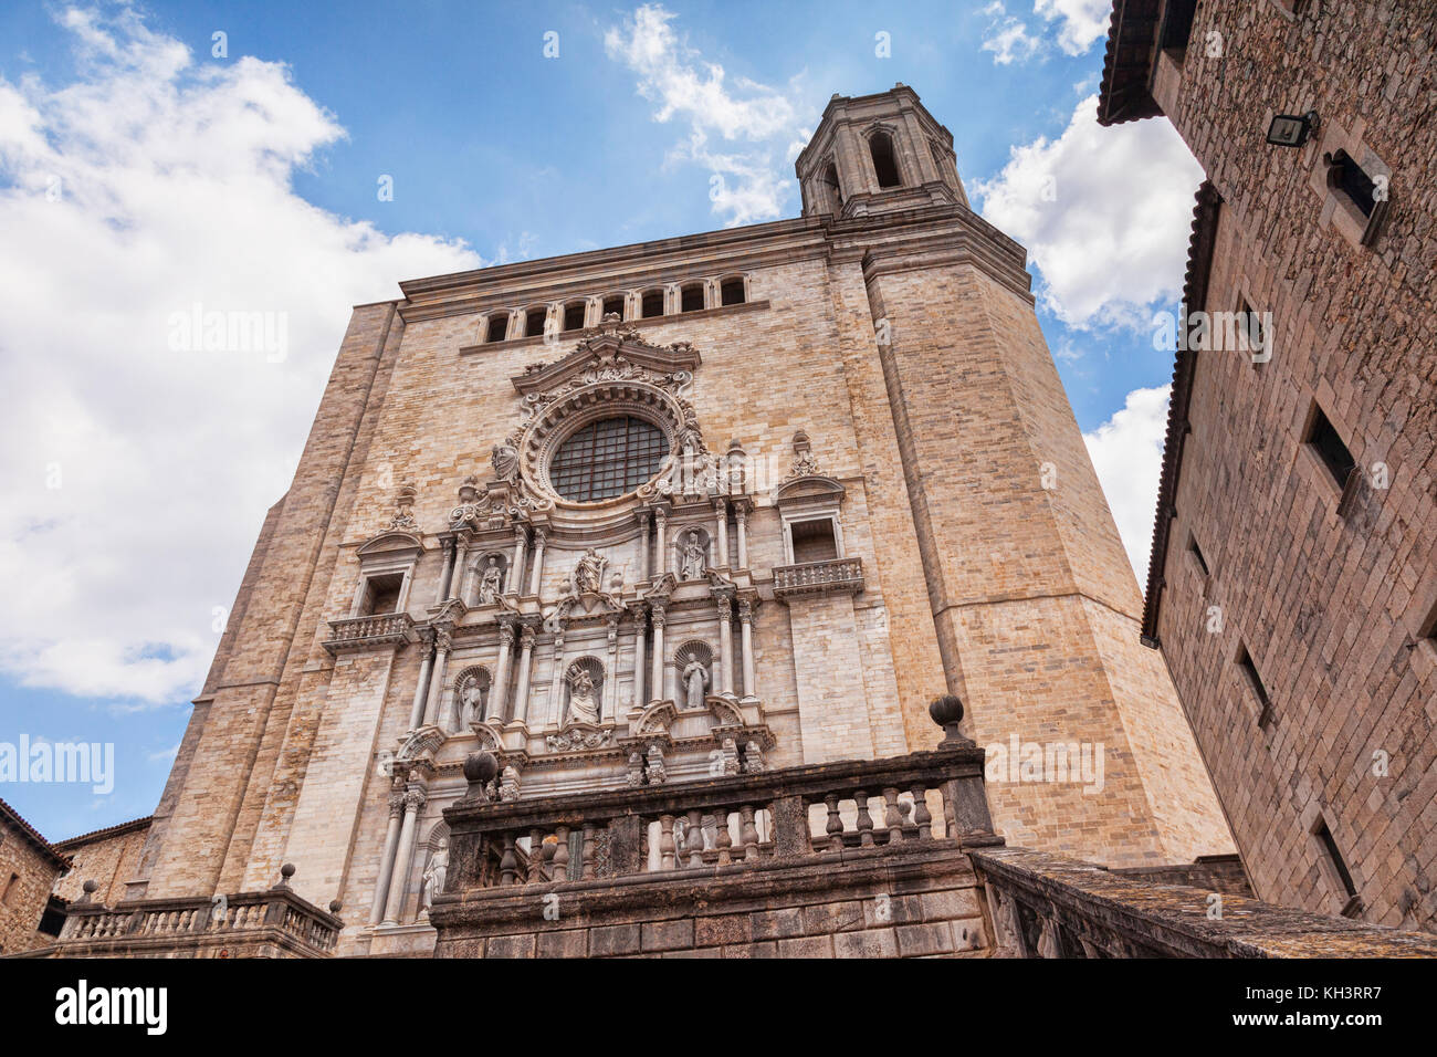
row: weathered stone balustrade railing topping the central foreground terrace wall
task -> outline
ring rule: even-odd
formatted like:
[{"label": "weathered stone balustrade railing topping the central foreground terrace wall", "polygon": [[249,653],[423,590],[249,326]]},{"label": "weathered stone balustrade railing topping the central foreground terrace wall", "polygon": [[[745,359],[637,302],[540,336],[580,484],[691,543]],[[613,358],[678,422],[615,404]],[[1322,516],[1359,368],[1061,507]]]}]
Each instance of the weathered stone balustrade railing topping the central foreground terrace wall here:
[{"label": "weathered stone balustrade railing topping the central foreground terrace wall", "polygon": [[[976,748],[448,808],[448,893],[744,869],[966,838],[993,843]],[[476,791],[477,790],[477,791]]]}]

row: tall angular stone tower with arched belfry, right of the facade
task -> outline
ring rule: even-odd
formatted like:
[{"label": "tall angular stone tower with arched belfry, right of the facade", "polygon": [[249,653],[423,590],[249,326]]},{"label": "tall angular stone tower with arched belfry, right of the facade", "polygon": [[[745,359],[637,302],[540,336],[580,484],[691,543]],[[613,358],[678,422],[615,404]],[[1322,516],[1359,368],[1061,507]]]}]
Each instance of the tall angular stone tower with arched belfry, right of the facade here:
[{"label": "tall angular stone tower with arched belfry, right of the facade", "polygon": [[901,454],[931,624],[895,662],[941,656],[933,677],[967,702],[970,736],[1002,746],[999,831],[1112,863],[1230,851],[1171,679],[1140,646],[1137,581],[1026,253],[969,207],[953,135],[905,85],[835,95],[796,170],[838,301],[872,326]]}]

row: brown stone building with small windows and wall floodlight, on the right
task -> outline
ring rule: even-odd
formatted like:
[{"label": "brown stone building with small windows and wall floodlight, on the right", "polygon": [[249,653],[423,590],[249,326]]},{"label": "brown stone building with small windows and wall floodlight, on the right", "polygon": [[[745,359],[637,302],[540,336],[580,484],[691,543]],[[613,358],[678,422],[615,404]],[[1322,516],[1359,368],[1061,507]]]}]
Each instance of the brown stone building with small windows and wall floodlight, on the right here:
[{"label": "brown stone building with small windows and wall floodlight, on the right", "polygon": [[1099,99],[1108,125],[1165,115],[1207,174],[1145,640],[1257,896],[1423,929],[1437,922],[1434,55],[1431,3],[1118,0]]}]

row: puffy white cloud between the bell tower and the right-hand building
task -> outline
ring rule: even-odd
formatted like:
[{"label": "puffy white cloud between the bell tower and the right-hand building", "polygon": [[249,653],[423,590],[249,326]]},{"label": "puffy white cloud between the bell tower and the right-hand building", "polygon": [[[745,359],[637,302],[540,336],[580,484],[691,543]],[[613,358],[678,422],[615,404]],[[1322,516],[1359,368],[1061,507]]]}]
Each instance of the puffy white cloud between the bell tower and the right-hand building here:
[{"label": "puffy white cloud between the bell tower and the right-hand building", "polygon": [[1058,139],[1013,147],[979,180],[983,219],[1027,246],[1046,306],[1065,324],[1144,326],[1181,289],[1203,171],[1165,121],[1102,128],[1096,98]]}]

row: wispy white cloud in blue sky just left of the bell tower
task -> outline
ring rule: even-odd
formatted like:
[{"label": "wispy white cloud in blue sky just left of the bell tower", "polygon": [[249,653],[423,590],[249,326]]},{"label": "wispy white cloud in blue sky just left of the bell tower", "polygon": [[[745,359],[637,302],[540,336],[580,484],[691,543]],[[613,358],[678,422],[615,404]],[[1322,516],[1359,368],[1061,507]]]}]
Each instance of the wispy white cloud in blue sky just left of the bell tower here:
[{"label": "wispy white cloud in blue sky just left of the bell tower", "polygon": [[[790,167],[808,141],[798,106],[785,93],[746,78],[729,82],[723,66],[703,60],[674,32],[674,17],[661,4],[644,4],[604,35],[604,49],[638,75],[638,93],[657,105],[654,121],[688,125],[667,161],[710,170],[713,213],[730,227],[782,216],[792,190],[792,170],[785,163]],[[716,150],[711,135],[743,145]]]}]

